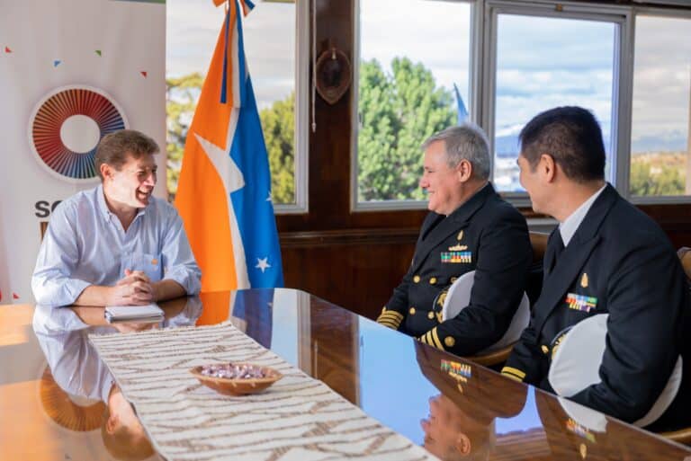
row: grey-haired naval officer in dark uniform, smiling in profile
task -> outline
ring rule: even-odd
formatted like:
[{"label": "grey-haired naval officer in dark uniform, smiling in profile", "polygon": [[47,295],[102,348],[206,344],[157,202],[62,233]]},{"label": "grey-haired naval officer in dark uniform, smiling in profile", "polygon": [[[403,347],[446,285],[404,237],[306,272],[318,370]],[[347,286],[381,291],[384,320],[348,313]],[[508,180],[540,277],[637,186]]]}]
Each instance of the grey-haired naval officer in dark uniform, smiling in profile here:
[{"label": "grey-haired naval officer in dark uniform, smiling in profile", "polygon": [[[430,209],[408,273],[377,322],[441,350],[472,355],[507,331],[523,297],[532,249],[525,218],[489,183],[489,144],[472,124],[425,141]],[[469,306],[442,322],[444,292],[475,270]]]}]

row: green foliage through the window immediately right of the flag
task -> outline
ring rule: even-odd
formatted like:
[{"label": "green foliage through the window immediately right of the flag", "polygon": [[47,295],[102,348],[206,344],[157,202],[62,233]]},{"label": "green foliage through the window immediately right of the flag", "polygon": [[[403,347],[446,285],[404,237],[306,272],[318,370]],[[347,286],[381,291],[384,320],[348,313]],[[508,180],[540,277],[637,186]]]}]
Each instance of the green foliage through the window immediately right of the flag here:
[{"label": "green foliage through the window immediately right of the flag", "polygon": [[259,112],[271,171],[274,203],[295,202],[295,93]]}]

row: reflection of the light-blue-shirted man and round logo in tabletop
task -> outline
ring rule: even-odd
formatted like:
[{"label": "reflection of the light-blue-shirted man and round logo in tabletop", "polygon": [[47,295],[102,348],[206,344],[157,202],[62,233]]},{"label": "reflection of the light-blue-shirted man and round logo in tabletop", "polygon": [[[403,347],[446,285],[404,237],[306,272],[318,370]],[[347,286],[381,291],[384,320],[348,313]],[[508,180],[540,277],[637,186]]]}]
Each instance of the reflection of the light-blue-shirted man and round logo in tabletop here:
[{"label": "reflection of the light-blue-shirted man and round logo in tabletop", "polygon": [[32,326],[48,362],[40,385],[46,414],[67,430],[100,428],[103,447],[116,459],[151,457],[146,431],[88,335],[193,325],[201,312],[200,299],[190,297],[169,303],[157,323],[105,324],[103,308],[37,306]]}]

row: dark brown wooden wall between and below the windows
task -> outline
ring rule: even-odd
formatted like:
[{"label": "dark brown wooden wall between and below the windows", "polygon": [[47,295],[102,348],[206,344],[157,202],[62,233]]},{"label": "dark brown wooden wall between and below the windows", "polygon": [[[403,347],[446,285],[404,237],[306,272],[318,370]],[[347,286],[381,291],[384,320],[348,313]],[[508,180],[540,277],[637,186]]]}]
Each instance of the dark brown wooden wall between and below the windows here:
[{"label": "dark brown wooden wall between and below the windows", "polygon": [[[331,40],[354,63],[354,0],[319,0],[317,6],[318,56]],[[285,286],[374,318],[408,269],[426,211],[350,211],[352,97],[348,90],[329,105],[317,96],[317,130],[310,133],[310,211],[277,221]],[[691,206],[642,209],[677,247],[691,246]]]}]

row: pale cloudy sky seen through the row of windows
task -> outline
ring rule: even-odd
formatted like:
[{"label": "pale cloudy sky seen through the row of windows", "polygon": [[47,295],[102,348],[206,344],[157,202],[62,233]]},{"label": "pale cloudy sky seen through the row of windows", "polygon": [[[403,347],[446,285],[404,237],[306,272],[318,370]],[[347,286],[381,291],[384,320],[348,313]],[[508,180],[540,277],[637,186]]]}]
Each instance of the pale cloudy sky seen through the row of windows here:
[{"label": "pale cloudy sky seen through the row of windows", "polygon": [[[438,0],[360,0],[361,58],[389,66],[408,56],[432,69],[437,84],[458,84],[469,101],[471,7]],[[167,0],[168,75],[205,73],[222,6]],[[513,136],[534,114],[564,103],[593,110],[609,131],[615,25],[500,15],[498,136]],[[259,1],[245,21],[247,60],[260,107],[288,96],[295,78],[295,5]],[[691,19],[639,17],[633,101],[633,150],[687,143]]]}]

